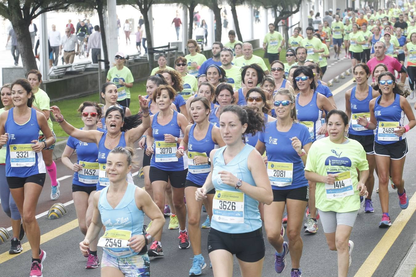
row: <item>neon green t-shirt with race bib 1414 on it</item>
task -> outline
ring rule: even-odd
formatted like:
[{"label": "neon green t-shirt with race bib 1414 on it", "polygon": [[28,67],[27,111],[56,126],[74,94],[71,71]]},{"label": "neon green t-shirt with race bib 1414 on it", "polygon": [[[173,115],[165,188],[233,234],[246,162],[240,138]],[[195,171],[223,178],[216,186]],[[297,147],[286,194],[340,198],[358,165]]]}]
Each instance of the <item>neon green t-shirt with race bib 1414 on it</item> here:
[{"label": "neon green t-shirt with race bib 1414 on it", "polygon": [[305,171],[339,176],[335,184],[316,184],[315,205],[321,211],[347,213],[360,208],[357,169],[368,170],[368,162],[362,145],[348,140],[337,144],[325,137],[314,142],[308,152]]}]

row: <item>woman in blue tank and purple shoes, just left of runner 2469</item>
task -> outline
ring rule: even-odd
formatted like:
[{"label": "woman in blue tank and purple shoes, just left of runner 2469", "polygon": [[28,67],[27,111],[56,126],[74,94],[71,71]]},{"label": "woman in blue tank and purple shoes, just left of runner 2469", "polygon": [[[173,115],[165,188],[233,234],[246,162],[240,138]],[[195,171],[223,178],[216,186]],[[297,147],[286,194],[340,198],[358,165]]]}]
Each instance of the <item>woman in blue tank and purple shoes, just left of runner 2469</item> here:
[{"label": "woman in blue tank and purple shoes, just left of runner 2469", "polygon": [[[374,189],[374,169],[376,169],[376,158],[374,157],[374,131],[362,127],[357,123],[357,120],[363,115],[365,115],[366,118],[370,118],[369,103],[371,99],[379,96],[379,93],[368,85],[368,78],[371,73],[366,64],[360,63],[354,66],[353,74],[357,81],[357,86],[349,89],[345,93],[345,113],[350,122],[348,138],[357,140],[366,152],[369,176],[365,182],[368,195],[364,202],[364,212],[373,213],[374,208],[371,196]],[[363,200],[364,199],[360,197],[360,202]]]}]

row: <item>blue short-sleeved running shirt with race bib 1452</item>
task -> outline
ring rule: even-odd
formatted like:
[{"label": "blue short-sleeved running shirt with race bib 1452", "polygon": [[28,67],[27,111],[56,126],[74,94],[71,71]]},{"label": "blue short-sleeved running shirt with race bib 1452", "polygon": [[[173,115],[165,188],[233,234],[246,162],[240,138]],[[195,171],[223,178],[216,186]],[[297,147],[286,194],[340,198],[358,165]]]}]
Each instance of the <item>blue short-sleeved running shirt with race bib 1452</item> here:
[{"label": "blue short-sleeved running shirt with race bib 1452", "polygon": [[[82,130],[82,128],[80,129]],[[97,131],[105,132],[101,128],[97,128]],[[74,172],[72,184],[78,186],[97,186],[99,172],[97,144],[82,142],[70,136],[68,137],[67,145],[77,151],[77,164],[81,164],[84,168],[80,172]]]}]

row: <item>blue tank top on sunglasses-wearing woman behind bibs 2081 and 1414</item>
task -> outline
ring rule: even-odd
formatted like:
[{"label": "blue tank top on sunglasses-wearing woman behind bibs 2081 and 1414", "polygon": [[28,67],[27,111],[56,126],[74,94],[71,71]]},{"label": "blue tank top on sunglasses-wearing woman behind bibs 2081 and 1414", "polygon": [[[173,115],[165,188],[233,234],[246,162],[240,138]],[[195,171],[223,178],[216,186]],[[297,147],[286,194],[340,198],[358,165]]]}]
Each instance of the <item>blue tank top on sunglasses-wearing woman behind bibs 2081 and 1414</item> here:
[{"label": "blue tank top on sunglasses-wearing woman behind bibs 2081 and 1414", "polygon": [[322,110],[320,110],[317,105],[317,94],[318,92],[314,91],[311,101],[305,106],[301,106],[298,103],[300,93],[298,93],[296,97],[297,119],[308,127],[312,142],[325,137],[325,135],[316,135],[316,131],[322,126]]}]

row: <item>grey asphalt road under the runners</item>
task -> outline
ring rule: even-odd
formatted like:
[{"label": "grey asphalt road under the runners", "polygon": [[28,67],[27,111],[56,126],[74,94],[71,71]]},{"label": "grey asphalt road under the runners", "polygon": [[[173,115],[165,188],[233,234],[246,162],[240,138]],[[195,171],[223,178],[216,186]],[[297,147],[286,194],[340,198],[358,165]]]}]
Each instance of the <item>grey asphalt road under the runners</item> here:
[{"label": "grey asphalt road under the runners", "polygon": [[[332,64],[334,63],[334,64]],[[331,65],[332,64],[332,65]],[[329,60],[327,73],[324,76],[324,81],[334,78],[341,72],[350,68],[351,62],[349,59],[343,59],[339,62],[334,59]],[[336,93],[334,95],[337,107],[341,110],[345,109],[344,92],[354,86],[351,82],[352,76],[341,79],[339,83],[334,83],[331,91]],[[416,100],[416,99],[415,99]],[[413,106],[414,101],[411,101]],[[414,146],[416,141],[416,132],[411,131],[406,134],[408,137],[409,154],[406,157],[406,164],[404,169],[404,179],[406,180],[406,192],[411,199],[416,185],[413,181],[415,172],[411,169],[411,164],[416,163],[416,155],[414,154]],[[139,150],[141,151],[141,150]],[[142,152],[141,152],[142,153]],[[141,156],[141,154],[139,154]],[[75,160],[75,157],[72,159]],[[56,161],[58,168],[58,177],[61,178],[61,196],[58,201],[66,203],[72,200],[71,181],[72,172],[65,167],[60,160]],[[137,170],[137,169],[136,169]],[[138,186],[143,186],[143,179],[136,177],[135,182]],[[374,190],[378,187],[378,179]],[[50,180],[47,177],[45,187],[42,191],[39,204],[37,206],[37,214],[47,211],[55,202],[49,198],[50,194]],[[416,206],[416,198],[412,199],[408,210],[402,212],[398,205],[397,192],[390,189],[390,216],[393,226],[389,229],[379,229],[378,223],[381,219],[381,208],[378,199],[378,194],[373,194],[375,212],[366,214],[363,209],[360,210],[354,229],[352,231],[351,240],[354,241],[355,247],[352,254],[352,265],[349,270],[349,276],[383,276],[391,277],[398,269],[401,260],[407,253],[411,244],[415,239],[415,215],[414,208]],[[68,213],[63,218],[57,220],[48,220],[45,216],[38,219],[41,229],[41,247],[47,252],[47,258],[43,263],[43,276],[99,276],[100,270],[86,270],[86,258],[82,256],[79,251],[78,243],[83,239],[83,235],[77,228],[76,214],[74,205],[67,205]],[[402,213],[401,213],[402,212]],[[400,216],[399,216],[399,213]],[[267,216],[267,215],[266,215]],[[399,218],[398,218],[399,217]],[[206,213],[201,215],[201,223],[205,221]],[[397,219],[397,220],[396,220]],[[408,221],[407,221],[408,220]],[[148,223],[146,219],[145,223]],[[318,221],[319,222],[319,221]],[[4,213],[0,213],[0,226],[9,227],[10,221]],[[163,229],[163,252],[165,254],[162,258],[151,258],[151,274],[152,276],[188,276],[188,271],[191,267],[191,258],[193,257],[191,248],[182,250],[178,248],[178,230],[168,230],[168,220]],[[403,227],[403,230],[401,230]],[[395,229],[393,229],[395,228]],[[393,232],[398,230],[396,234]],[[208,237],[208,229],[202,230],[202,250],[203,256],[209,264],[209,257],[207,252],[206,241]],[[386,235],[385,235],[386,234]],[[396,239],[396,236],[399,238]],[[310,235],[301,233],[304,243],[301,268],[303,276],[337,276],[337,254],[330,251],[327,247],[324,237],[323,229],[319,223],[319,230],[316,234]],[[22,243],[24,250],[29,250],[30,246],[27,239],[23,239]],[[392,244],[391,248],[388,246]],[[274,270],[274,249],[265,240],[266,256],[263,265],[263,276],[277,275]],[[0,276],[1,277],[20,277],[28,276],[30,270],[30,251],[21,253],[20,255],[9,255],[8,250],[10,242],[0,245]],[[385,250],[385,251],[384,251]],[[384,255],[386,254],[386,255]],[[102,250],[99,249],[99,257],[101,258]],[[288,266],[281,276],[290,275],[290,255],[287,256]],[[381,260],[380,260],[381,259]],[[362,267],[362,265],[364,266]],[[360,267],[362,267],[360,269]],[[371,270],[374,268],[374,270]],[[365,270],[371,270],[371,273],[365,273]],[[374,272],[374,274],[373,274]],[[409,273],[410,275],[411,273]],[[207,266],[203,270],[203,276],[213,276],[212,270]],[[235,259],[233,276],[240,276],[238,262]]]}]

